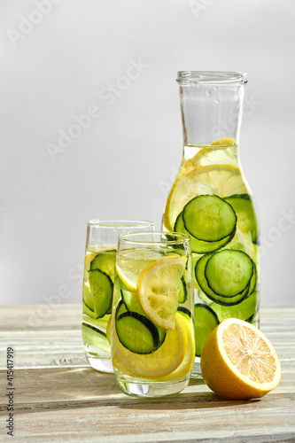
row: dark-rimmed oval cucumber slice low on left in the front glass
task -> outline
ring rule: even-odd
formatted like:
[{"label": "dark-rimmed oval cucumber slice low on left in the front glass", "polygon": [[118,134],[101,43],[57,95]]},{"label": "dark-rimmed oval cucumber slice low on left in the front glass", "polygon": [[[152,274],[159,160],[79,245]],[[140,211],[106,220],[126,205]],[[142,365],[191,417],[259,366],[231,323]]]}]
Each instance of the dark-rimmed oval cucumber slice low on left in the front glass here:
[{"label": "dark-rimmed oval cucumber slice low on left in the front glass", "polygon": [[135,354],[151,354],[159,347],[159,332],[151,320],[136,312],[125,312],[116,320],[120,343]]}]

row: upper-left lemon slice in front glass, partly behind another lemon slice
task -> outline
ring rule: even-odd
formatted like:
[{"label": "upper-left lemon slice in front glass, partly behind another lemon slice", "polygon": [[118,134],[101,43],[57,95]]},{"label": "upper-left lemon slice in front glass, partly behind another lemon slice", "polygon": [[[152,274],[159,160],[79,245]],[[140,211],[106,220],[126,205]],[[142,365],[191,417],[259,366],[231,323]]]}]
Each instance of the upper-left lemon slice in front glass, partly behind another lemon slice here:
[{"label": "upper-left lemon slice in front glass, partly behind another lemon slice", "polygon": [[129,291],[136,292],[136,284],[144,268],[161,257],[159,251],[148,248],[137,248],[124,251],[117,256],[116,271],[121,282]]}]

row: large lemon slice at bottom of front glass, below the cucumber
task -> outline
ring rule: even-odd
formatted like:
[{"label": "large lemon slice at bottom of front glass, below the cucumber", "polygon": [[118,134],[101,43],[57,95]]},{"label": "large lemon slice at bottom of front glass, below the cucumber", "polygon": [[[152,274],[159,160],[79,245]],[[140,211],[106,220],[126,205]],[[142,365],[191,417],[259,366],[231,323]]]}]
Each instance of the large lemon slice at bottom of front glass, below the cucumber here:
[{"label": "large lemon slice at bottom of front glass, below the cucumber", "polygon": [[157,380],[177,369],[188,348],[188,335],[180,314],[175,316],[175,329],[168,330],[162,346],[151,354],[135,354],[121,345],[113,326],[113,366],[130,377]]}]

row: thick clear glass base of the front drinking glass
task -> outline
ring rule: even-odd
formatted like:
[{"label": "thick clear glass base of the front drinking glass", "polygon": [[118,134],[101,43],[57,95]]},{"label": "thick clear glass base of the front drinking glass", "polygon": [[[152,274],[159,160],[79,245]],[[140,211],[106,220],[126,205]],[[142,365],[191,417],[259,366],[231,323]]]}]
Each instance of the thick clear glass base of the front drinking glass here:
[{"label": "thick clear glass base of the front drinking glass", "polygon": [[134,397],[166,397],[182,390],[189,385],[190,375],[176,380],[159,382],[156,380],[146,380],[143,378],[128,377],[117,369],[114,374],[120,388],[128,395]]}]

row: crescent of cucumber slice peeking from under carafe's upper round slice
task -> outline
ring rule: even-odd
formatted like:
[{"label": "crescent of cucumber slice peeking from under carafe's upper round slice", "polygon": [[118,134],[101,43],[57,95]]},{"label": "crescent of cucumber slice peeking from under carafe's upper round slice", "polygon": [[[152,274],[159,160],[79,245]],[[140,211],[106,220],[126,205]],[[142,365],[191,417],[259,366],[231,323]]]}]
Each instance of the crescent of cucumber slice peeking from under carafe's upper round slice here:
[{"label": "crescent of cucumber slice peeking from under carafe's upper round slice", "polygon": [[236,228],[228,237],[222,238],[222,240],[220,240],[219,242],[205,242],[202,240],[198,240],[198,238],[192,237],[190,235],[190,232],[185,229],[182,215],[183,212],[177,216],[174,230],[175,232],[182,232],[182,234],[187,234],[188,236],[190,236],[190,246],[192,253],[213,253],[213,251],[217,251],[218,249],[221,249],[221,247],[228,245],[228,243],[235,236]]}]

